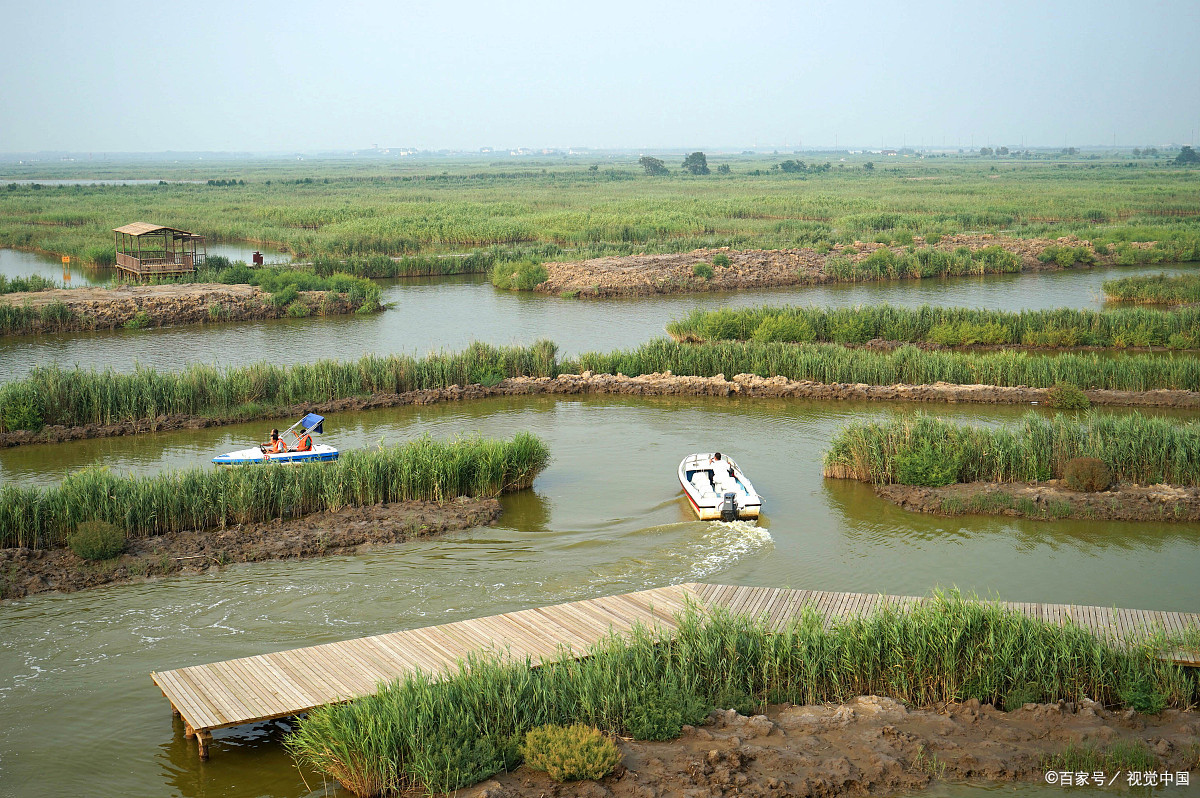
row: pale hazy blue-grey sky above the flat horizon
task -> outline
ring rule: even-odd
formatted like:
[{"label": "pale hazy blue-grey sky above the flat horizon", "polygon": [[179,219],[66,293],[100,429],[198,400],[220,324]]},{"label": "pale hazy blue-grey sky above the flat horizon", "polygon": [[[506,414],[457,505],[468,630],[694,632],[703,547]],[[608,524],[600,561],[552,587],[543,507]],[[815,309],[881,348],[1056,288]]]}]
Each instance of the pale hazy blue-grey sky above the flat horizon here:
[{"label": "pale hazy blue-grey sky above the flat horizon", "polygon": [[0,151],[1190,143],[1198,0],[0,0]]}]

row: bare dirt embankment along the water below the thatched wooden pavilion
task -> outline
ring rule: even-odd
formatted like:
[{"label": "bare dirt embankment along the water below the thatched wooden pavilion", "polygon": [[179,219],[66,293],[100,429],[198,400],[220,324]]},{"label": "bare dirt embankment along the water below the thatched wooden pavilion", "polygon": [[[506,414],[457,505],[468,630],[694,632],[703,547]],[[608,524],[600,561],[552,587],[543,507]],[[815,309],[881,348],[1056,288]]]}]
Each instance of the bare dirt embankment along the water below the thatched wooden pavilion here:
[{"label": "bare dirt embankment along the water below the thatched wooden pavilion", "polygon": [[[335,298],[336,296],[336,298]],[[346,294],[300,292],[295,301],[305,316],[340,316],[361,307]],[[271,304],[271,295],[254,286],[170,283],[116,288],[60,288],[0,295],[0,302],[44,311],[61,305],[62,313],[35,313],[19,334],[114,330],[127,325],[175,326],[212,322],[258,322],[288,316]],[[293,311],[300,312],[300,311]],[[143,314],[143,316],[139,316]]]}]

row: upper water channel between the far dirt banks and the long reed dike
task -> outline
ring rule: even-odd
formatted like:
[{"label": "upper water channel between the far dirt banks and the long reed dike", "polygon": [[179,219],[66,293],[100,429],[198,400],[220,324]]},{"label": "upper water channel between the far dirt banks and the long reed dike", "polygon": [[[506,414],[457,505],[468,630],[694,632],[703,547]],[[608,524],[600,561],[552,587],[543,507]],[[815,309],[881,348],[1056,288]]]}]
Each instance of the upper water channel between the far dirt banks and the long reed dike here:
[{"label": "upper water channel between the far dirt banks and the long reed dike", "polygon": [[[1166,271],[1194,270],[1175,266]],[[1100,283],[1114,276],[1164,269],[1102,269],[950,280],[898,281],[734,294],[686,294],[580,301],[500,292],[481,275],[385,282],[394,310],[368,318],[281,319],[163,330],[6,336],[0,338],[0,382],[38,364],[80,364],[130,371],[134,364],[179,368],[188,362],[239,365],[271,360],[358,358],[367,353],[425,354],[462,349],[472,341],[528,344],[550,338],[568,354],[624,349],[661,336],[667,322],[695,307],[754,305],[853,306],[892,302],[1001,310],[1092,307]]]}]

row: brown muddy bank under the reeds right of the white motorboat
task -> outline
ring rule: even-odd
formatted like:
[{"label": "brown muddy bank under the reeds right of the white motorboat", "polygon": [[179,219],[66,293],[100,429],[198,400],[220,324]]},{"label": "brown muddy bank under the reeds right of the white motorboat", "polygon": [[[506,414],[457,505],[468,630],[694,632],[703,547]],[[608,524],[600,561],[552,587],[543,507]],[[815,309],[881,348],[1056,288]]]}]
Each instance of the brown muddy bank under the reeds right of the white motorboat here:
[{"label": "brown muddy bank under the reeds right of the white motorboat", "polygon": [[880,485],[875,493],[905,510],[942,516],[1200,521],[1200,488],[1176,485],[1115,485],[1108,491],[1080,493],[1067,488],[1062,480],[960,482],[943,487]]}]

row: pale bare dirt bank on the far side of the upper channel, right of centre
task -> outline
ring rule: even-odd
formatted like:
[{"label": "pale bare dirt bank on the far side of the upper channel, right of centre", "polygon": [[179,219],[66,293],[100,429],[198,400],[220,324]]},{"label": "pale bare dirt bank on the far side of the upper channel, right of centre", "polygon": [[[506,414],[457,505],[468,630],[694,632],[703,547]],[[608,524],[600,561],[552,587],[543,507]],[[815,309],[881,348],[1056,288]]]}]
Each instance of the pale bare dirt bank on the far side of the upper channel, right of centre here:
[{"label": "pale bare dirt bank on the far side of the upper channel, right of centre", "polygon": [[[918,239],[918,246],[920,240]],[[1054,263],[1044,264],[1038,256],[1051,246],[1087,246],[1075,236],[1054,239],[1010,239],[997,235],[947,235],[934,247],[947,252],[959,247],[971,251],[1000,245],[1021,258],[1022,271],[1058,270]],[[694,250],[672,254],[631,254],[570,263],[546,263],[550,278],[536,287],[544,294],[572,294],[586,298],[641,296],[648,294],[686,294],[710,290],[743,290],[780,286],[811,286],[839,282],[826,271],[826,263],[834,257],[864,260],[882,244],[856,241],[852,247],[838,245],[827,254],[816,250]],[[898,254],[904,247],[890,247]],[[722,253],[730,265],[713,265],[713,276],[703,278],[692,272],[697,263],[712,265],[713,256]],[[1112,256],[1096,254],[1099,264],[1110,264]]]}]

